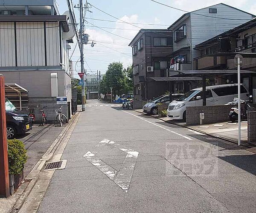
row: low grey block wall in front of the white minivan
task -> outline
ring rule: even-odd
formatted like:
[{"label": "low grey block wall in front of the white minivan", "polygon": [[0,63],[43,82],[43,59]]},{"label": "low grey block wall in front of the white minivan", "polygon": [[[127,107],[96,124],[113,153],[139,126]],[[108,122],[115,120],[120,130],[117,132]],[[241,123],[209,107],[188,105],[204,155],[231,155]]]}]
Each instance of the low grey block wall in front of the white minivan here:
[{"label": "low grey block wall in front of the white minivan", "polygon": [[229,121],[228,113],[232,105],[186,107],[186,125],[199,125],[199,113],[204,112],[203,124]]}]

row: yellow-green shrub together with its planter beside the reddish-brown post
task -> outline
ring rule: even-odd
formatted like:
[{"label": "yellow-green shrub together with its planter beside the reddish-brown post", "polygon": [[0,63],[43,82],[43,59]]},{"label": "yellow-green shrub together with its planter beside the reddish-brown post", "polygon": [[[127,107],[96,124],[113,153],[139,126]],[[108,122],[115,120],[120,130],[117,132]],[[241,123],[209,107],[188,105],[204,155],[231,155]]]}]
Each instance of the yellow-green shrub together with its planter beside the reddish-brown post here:
[{"label": "yellow-green shrub together with its planter beside the reddish-brown post", "polygon": [[23,180],[23,169],[27,161],[26,149],[22,141],[13,139],[8,140],[8,161],[9,161],[9,180],[10,193],[13,194],[20,182]]}]

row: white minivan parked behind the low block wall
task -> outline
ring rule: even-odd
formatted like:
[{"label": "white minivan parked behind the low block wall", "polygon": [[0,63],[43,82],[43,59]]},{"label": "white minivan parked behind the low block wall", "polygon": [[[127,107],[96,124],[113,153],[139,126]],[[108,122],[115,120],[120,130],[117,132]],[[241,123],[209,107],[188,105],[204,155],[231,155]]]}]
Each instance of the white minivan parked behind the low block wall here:
[{"label": "white minivan parked behind the low block wall", "polygon": [[[206,105],[224,105],[233,101],[238,95],[238,83],[206,87]],[[176,101],[172,101],[167,109],[167,117],[177,120],[186,119],[186,107],[203,106],[202,87],[192,89]],[[249,92],[241,84],[241,100],[248,100]]]}]

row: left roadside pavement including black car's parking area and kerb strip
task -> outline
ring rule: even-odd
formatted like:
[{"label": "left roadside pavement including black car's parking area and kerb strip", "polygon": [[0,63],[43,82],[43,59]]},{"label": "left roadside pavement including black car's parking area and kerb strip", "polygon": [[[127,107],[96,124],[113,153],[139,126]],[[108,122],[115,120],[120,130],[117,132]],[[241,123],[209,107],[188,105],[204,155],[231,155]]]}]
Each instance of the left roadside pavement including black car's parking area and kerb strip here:
[{"label": "left roadside pavement including black car's parking area and kerb strip", "polygon": [[[76,115],[77,114],[79,113],[76,113]],[[24,181],[14,195],[10,196],[8,199],[0,198],[0,213],[9,213],[15,206],[19,207],[19,205],[22,204],[23,199],[25,199],[30,190],[34,187],[35,181],[37,180],[35,171],[37,171],[38,167],[41,165],[39,163],[43,162],[41,161],[42,158],[44,158],[44,155],[46,155],[49,150],[53,150],[56,145],[55,141],[61,139],[63,131],[73,123],[76,115],[73,116],[69,124],[65,124],[63,127],[59,127],[57,124],[46,124],[44,127],[40,127],[38,124],[34,124],[32,130],[17,138],[23,141],[28,155],[28,160],[24,168]],[[28,178],[28,176],[31,178]]]}]

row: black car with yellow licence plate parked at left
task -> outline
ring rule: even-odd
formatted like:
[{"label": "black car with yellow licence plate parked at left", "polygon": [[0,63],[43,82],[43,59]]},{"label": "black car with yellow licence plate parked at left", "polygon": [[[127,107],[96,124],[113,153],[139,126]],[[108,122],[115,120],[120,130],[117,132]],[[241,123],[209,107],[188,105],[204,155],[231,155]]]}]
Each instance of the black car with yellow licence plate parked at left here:
[{"label": "black car with yellow licence plate parked at left", "polygon": [[19,111],[11,101],[5,99],[7,138],[12,139],[32,129],[29,115]]}]

